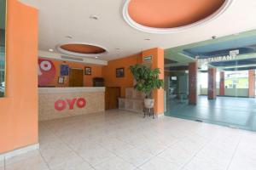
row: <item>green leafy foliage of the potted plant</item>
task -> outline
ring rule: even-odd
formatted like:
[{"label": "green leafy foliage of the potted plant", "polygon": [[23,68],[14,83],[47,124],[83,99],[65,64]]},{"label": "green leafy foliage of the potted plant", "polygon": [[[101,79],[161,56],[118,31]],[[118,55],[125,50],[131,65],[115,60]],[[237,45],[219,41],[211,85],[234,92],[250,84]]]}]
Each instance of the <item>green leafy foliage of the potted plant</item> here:
[{"label": "green leafy foliage of the potted plant", "polygon": [[131,65],[131,73],[137,81],[134,88],[146,94],[146,98],[152,97],[154,89],[164,88],[164,81],[160,80],[160,69],[150,69],[146,65]]}]

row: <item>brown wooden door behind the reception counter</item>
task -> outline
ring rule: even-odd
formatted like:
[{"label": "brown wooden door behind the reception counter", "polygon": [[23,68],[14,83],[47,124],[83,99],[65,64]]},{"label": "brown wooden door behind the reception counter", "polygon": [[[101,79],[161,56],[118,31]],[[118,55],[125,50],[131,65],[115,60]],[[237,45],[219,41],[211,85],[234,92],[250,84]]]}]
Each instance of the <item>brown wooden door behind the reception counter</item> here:
[{"label": "brown wooden door behind the reception counter", "polygon": [[84,87],[84,70],[69,69],[69,87]]}]

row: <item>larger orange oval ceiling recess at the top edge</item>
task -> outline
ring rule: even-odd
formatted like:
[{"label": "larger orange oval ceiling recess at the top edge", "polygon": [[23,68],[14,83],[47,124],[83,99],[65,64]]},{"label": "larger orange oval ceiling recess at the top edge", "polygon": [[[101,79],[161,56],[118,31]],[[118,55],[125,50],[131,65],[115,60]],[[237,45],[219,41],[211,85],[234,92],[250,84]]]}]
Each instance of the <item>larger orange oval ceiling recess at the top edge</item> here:
[{"label": "larger orange oval ceiling recess at the top edge", "polygon": [[128,13],[138,24],[154,28],[187,26],[207,18],[225,0],[131,0]]}]

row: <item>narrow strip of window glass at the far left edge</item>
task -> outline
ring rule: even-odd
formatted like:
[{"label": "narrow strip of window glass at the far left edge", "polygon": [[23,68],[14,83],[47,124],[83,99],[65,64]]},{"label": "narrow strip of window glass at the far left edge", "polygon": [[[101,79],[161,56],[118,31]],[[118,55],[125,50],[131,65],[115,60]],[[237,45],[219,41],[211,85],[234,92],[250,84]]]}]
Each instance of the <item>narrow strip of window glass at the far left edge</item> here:
[{"label": "narrow strip of window glass at the far left edge", "polygon": [[6,0],[0,0],[0,97],[5,94],[5,14]]}]

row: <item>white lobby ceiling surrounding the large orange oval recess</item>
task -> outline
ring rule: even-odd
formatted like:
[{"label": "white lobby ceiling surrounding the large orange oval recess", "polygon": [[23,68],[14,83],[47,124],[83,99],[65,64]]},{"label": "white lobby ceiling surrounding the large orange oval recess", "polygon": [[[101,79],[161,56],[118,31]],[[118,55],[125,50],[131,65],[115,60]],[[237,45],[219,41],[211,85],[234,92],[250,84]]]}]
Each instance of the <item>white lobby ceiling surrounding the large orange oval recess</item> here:
[{"label": "white lobby ceiling surrounding the large orange oval recess", "polygon": [[[20,0],[39,9],[39,49],[60,43],[87,42],[107,48],[111,60],[148,48],[172,48],[256,29],[256,1],[234,0],[224,14],[204,26],[172,34],[149,34],[131,28],[121,15],[123,0]],[[178,0],[177,0],[178,1]],[[96,15],[99,20],[91,20]],[[73,36],[73,39],[67,38]],[[150,38],[150,41],[145,41]],[[120,48],[120,50],[116,50]]]}]

